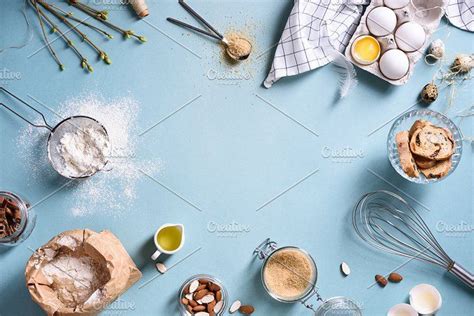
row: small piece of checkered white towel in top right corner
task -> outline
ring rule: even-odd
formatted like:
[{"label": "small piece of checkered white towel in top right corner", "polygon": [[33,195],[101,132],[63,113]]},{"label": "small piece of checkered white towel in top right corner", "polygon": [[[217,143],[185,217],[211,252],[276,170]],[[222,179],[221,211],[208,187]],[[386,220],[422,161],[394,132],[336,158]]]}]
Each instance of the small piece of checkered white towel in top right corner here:
[{"label": "small piece of checkered white towel in top right corner", "polygon": [[446,17],[454,26],[474,32],[474,0],[449,0]]}]

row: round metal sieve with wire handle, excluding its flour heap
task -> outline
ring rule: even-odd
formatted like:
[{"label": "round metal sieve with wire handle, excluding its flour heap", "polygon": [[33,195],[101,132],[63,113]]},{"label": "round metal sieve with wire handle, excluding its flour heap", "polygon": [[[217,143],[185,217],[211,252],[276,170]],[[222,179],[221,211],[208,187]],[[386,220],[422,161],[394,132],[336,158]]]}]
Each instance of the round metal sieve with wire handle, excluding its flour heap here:
[{"label": "round metal sieve with wire handle, excluding its flour heap", "polygon": [[89,117],[89,116],[84,116],[84,115],[74,115],[67,117],[63,119],[61,122],[56,124],[54,127],[49,125],[46,121],[45,116],[43,113],[41,113],[38,109],[33,107],[32,105],[28,104],[26,101],[22,100],[15,94],[11,93],[10,91],[6,90],[3,87],[0,87],[1,91],[4,91],[6,94],[14,98],[15,100],[23,103],[26,105],[28,108],[31,110],[35,111],[37,114],[39,114],[43,120],[44,124],[36,124],[25,118],[23,115],[19,114],[17,111],[9,107],[8,105],[0,102],[0,105],[5,107],[7,110],[27,122],[28,124],[38,127],[38,128],[46,128],[49,130],[49,136],[48,136],[48,141],[47,141],[47,150],[48,150],[48,159],[49,162],[51,163],[51,166],[56,170],[61,176],[68,178],[68,179],[83,179],[83,178],[88,178],[98,171],[102,170],[105,165],[107,164],[108,160],[105,160],[104,165],[99,168],[98,170],[91,170],[89,172],[86,172],[84,174],[81,174],[80,176],[76,175],[71,175],[69,174],[65,168],[64,168],[64,159],[62,158],[59,150],[58,150],[58,145],[60,143],[61,138],[66,134],[66,133],[71,133],[77,130],[84,131],[85,129],[92,128],[94,130],[102,132],[106,139],[107,142],[109,143],[109,136],[107,133],[107,130],[105,127],[98,122],[96,119]]}]

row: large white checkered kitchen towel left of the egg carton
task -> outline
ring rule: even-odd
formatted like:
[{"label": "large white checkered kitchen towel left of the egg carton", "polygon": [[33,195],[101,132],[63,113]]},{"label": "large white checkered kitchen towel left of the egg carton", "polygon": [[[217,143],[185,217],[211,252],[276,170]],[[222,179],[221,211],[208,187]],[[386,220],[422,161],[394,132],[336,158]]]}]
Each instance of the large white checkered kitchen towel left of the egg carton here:
[{"label": "large white checkered kitchen towel left of the egg carton", "polygon": [[270,88],[278,79],[324,66],[343,51],[368,0],[295,0],[264,81]]}]

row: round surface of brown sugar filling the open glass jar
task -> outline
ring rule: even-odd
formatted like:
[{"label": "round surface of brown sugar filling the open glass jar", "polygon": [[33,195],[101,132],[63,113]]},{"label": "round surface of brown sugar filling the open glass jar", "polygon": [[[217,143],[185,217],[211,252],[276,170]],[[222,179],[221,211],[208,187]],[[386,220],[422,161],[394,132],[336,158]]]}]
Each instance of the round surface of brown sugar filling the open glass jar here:
[{"label": "round surface of brown sugar filling the open glass jar", "polygon": [[268,259],[263,279],[267,289],[283,300],[303,297],[316,278],[312,259],[297,248],[283,248]]}]

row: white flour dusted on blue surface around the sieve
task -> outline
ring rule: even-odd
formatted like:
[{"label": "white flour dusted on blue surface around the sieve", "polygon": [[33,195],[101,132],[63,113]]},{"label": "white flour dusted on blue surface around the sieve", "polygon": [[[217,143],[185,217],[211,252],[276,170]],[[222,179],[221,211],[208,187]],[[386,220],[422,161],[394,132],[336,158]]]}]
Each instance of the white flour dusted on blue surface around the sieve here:
[{"label": "white flour dusted on blue surface around the sieve", "polygon": [[[136,153],[141,132],[136,122],[138,110],[137,102],[131,97],[107,100],[97,94],[87,94],[61,104],[57,111],[61,118],[49,115],[50,121],[72,115],[90,116],[104,125],[109,135],[111,153],[104,170],[64,188],[68,191],[68,203],[72,203],[69,211],[73,216],[93,216],[99,212],[121,216],[132,208],[137,198],[137,186],[144,180],[140,170],[154,176],[161,169],[158,158],[146,159]],[[59,187],[64,182],[58,179],[48,161],[48,133],[29,125],[21,126],[17,143],[19,157],[30,171],[28,185],[56,181]]]}]

